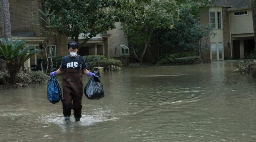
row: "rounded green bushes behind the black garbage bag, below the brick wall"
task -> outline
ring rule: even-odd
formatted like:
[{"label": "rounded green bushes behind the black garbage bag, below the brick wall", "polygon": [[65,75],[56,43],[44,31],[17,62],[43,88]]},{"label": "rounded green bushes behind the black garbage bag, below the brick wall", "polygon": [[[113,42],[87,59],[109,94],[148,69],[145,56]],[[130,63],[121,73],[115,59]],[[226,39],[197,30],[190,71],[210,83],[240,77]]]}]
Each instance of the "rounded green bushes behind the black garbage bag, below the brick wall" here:
[{"label": "rounded green bushes behind the black garbage bag, below the brick wall", "polygon": [[103,55],[87,55],[84,56],[85,62],[89,70],[93,71],[94,67],[103,67],[104,71],[112,71],[111,65],[113,65],[113,70],[120,70],[122,63],[120,60],[107,59]]}]

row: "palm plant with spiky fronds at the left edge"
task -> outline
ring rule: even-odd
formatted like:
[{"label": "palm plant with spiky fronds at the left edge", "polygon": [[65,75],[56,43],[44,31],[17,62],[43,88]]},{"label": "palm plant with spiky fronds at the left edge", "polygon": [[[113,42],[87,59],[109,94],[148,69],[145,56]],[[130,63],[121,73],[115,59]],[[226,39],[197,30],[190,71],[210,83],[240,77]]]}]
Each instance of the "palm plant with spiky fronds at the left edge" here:
[{"label": "palm plant with spiky fronds at the left edge", "polygon": [[20,41],[16,39],[4,38],[0,39],[0,62],[3,62],[7,66],[7,71],[10,74],[9,83],[14,84],[16,82],[16,75],[20,71],[20,67],[24,67],[24,62],[31,56],[44,50],[35,49],[34,47],[27,47],[24,40]]}]

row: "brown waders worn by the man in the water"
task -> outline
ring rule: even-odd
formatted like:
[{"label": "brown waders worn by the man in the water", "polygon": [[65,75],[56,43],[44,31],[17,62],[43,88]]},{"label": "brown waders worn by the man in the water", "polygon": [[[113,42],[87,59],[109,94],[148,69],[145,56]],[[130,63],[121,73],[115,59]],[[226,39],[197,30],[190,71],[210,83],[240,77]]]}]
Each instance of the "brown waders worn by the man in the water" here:
[{"label": "brown waders worn by the man in the water", "polygon": [[63,87],[63,115],[70,117],[71,109],[74,110],[76,121],[82,117],[82,69],[67,68],[63,73],[62,87]]}]

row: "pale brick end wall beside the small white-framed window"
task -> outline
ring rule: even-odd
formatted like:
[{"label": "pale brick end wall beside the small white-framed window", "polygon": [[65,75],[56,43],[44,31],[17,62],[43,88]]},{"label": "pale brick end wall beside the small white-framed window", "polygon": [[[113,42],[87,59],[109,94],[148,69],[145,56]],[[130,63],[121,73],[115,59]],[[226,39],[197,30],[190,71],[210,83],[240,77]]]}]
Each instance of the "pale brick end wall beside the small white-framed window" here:
[{"label": "pale brick end wall beside the small white-framed window", "polygon": [[[116,23],[116,29],[109,30],[108,34],[112,34],[108,38],[108,49],[110,57],[120,56],[120,44],[124,44],[128,47],[128,40],[126,39],[124,32],[120,30],[121,23]],[[115,48],[117,48],[115,53]],[[131,49],[130,49],[131,50]]]}]

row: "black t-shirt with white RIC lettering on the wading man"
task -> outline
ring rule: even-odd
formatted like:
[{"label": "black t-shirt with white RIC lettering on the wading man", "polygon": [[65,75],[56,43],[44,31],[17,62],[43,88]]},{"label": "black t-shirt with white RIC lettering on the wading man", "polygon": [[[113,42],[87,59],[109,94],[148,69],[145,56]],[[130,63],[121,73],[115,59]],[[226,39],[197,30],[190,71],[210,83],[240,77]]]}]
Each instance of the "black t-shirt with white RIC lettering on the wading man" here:
[{"label": "black t-shirt with white RIC lettering on the wading man", "polygon": [[[79,63],[79,58],[81,57],[81,63]],[[70,69],[85,69],[87,68],[87,65],[85,64],[85,60],[83,56],[80,56],[77,54],[76,57],[70,57],[69,55],[63,57],[61,59],[61,64],[60,64],[60,69],[66,69],[66,68],[70,68]]]}]

